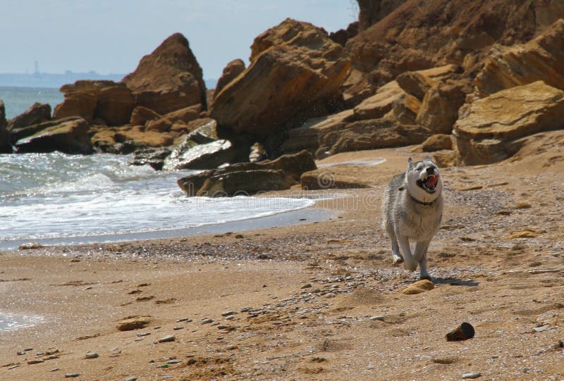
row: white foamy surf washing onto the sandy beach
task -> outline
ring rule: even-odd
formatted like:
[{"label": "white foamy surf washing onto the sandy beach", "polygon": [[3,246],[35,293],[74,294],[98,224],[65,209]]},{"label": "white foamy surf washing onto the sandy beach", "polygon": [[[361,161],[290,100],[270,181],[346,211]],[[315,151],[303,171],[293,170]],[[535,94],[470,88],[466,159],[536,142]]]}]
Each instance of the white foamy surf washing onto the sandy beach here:
[{"label": "white foamy surf washing onto the sandy beach", "polygon": [[128,165],[130,159],[57,152],[0,155],[0,249],[15,249],[23,242],[175,236],[170,232],[274,216],[315,202],[299,197],[187,197],[176,180],[190,171],[157,172],[147,165]]}]

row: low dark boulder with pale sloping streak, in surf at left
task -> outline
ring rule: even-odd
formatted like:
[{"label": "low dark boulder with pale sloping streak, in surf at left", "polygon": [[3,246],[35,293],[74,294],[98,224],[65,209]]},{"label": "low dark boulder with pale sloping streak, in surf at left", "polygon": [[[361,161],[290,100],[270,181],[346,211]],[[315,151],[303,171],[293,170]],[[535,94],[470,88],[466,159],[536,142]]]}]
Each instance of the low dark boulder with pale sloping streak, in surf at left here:
[{"label": "low dark boulder with pale sloping streak, in surf at left", "polygon": [[88,123],[80,117],[51,120],[11,131],[17,137],[16,152],[53,152],[92,154]]}]

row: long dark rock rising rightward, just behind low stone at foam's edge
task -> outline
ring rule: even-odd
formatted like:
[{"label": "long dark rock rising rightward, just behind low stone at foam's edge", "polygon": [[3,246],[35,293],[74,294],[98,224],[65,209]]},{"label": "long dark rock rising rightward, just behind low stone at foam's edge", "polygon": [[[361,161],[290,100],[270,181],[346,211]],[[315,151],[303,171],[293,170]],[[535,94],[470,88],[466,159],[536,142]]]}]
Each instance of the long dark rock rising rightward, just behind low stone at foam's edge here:
[{"label": "long dark rock rising rightward, just behind low stone at foam's edge", "polygon": [[[235,163],[233,165],[228,165],[224,168],[217,168],[215,170],[207,170],[202,173],[197,173],[196,175],[189,175],[178,179],[177,183],[180,189],[182,189],[188,196],[195,196],[200,189],[203,187],[204,182],[211,177],[221,177],[228,173],[233,172],[246,172],[246,171],[258,171],[258,170],[278,170],[282,171],[285,175],[290,176],[295,182],[300,180],[302,173],[309,170],[314,170],[317,168],[312,154],[308,151],[300,151],[298,154],[293,155],[283,155],[272,161],[262,161],[261,163]],[[290,181],[291,182],[291,181]],[[266,186],[268,183],[262,185],[262,189],[259,190],[275,190],[268,189]],[[290,184],[291,185],[291,184]],[[251,189],[251,187],[247,187]],[[252,187],[256,189],[257,185]],[[278,188],[277,188],[278,189]],[[245,189],[240,189],[245,190]],[[248,191],[245,191],[248,192]]]}]

